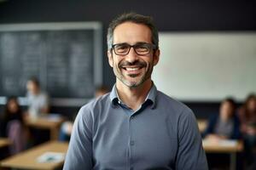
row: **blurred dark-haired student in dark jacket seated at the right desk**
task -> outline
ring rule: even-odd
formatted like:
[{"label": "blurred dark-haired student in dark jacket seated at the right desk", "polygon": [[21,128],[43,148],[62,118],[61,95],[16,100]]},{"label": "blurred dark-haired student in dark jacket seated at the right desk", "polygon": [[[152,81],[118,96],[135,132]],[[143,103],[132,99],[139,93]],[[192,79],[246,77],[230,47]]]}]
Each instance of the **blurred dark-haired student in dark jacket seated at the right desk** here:
[{"label": "blurred dark-haired student in dark jacket seated at the right desk", "polygon": [[219,108],[219,114],[212,116],[203,138],[218,142],[220,139],[240,139],[240,122],[236,116],[236,104],[233,99],[224,99]]}]

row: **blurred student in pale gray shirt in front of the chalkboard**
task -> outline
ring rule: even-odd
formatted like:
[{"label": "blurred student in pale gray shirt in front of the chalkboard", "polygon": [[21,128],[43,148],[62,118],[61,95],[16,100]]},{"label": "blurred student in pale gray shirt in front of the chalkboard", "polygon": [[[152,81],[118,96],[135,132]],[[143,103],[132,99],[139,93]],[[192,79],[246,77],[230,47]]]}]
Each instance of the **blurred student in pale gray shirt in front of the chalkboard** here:
[{"label": "blurred student in pale gray shirt in front of the chalkboard", "polygon": [[32,77],[26,82],[28,116],[37,117],[41,113],[49,112],[49,97],[42,92],[38,79]]}]

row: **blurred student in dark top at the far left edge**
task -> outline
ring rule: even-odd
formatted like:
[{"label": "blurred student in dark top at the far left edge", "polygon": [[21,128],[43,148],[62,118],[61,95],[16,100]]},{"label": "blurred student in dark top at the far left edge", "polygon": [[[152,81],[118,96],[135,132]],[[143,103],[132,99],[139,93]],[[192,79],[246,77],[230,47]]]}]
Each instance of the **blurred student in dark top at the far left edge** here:
[{"label": "blurred student in dark top at the far left edge", "polygon": [[22,111],[15,97],[10,97],[5,105],[1,120],[1,136],[9,138],[11,145],[9,153],[14,155],[26,146],[26,127],[24,126]]}]

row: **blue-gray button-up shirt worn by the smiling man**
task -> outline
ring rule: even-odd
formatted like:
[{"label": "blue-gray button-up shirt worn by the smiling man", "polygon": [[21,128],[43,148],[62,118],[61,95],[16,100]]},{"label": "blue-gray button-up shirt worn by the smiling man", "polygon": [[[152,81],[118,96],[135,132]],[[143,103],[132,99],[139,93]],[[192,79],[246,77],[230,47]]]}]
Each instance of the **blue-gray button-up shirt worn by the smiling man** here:
[{"label": "blue-gray button-up shirt worn by the smiling man", "polygon": [[74,122],[65,170],[205,170],[193,112],[155,86],[132,111],[115,86],[110,94],[84,105]]}]

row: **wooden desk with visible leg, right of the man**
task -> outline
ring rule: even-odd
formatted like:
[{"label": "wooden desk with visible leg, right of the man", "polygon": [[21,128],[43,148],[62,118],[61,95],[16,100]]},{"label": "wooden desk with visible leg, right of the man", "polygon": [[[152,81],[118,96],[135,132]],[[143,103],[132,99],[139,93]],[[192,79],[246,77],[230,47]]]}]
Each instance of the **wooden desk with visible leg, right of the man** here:
[{"label": "wooden desk with visible leg, right of the man", "polygon": [[243,143],[240,140],[211,142],[204,139],[202,144],[207,153],[230,153],[230,170],[236,169],[236,153],[243,150]]}]

